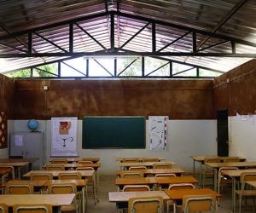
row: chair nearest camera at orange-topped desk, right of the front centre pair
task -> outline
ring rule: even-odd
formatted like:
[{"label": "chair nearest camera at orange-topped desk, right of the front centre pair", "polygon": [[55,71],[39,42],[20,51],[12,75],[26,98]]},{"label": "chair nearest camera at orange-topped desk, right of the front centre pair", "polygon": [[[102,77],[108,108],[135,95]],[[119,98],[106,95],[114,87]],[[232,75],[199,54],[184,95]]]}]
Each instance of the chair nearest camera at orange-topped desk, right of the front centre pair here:
[{"label": "chair nearest camera at orange-topped desk, right of the front centre pair", "polygon": [[216,198],[211,195],[186,195],[183,196],[182,212],[211,211],[216,212]]}]

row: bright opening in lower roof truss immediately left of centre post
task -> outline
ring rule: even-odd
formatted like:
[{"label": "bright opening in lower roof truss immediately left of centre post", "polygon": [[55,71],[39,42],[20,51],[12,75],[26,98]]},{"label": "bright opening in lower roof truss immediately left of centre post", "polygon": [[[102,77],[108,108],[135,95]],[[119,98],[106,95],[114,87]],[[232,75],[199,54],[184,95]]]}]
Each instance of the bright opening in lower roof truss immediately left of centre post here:
[{"label": "bright opening in lower roof truss immediately left of centre post", "polygon": [[[98,63],[100,63],[105,69],[107,69],[108,71],[106,71],[102,66],[100,66],[96,61],[98,61]],[[108,73],[110,72],[110,73]],[[89,60],[89,76],[90,77],[110,77],[113,75],[113,59],[98,59],[96,58],[96,60],[94,59],[90,59]]]}]

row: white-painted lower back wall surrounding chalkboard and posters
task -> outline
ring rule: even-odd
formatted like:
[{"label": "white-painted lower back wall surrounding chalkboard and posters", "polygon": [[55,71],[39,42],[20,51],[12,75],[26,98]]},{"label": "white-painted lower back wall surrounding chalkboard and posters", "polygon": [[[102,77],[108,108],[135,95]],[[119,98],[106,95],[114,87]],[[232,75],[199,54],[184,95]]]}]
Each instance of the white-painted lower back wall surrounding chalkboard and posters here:
[{"label": "white-painted lower back wall surrounding chalkboard and posters", "polygon": [[[15,120],[13,132],[28,131],[26,120]],[[147,122],[148,125],[148,122]],[[39,130],[45,137],[46,161],[50,156],[50,120],[40,120]],[[148,128],[147,128],[148,133]],[[167,151],[155,152],[148,150],[148,134],[146,149],[82,149],[82,121],[78,125],[78,150],[79,156],[101,158],[102,175],[113,175],[119,170],[115,158],[155,156],[173,160],[186,171],[192,171],[193,162],[190,155],[216,153],[216,121],[215,120],[170,120],[168,122],[168,147]]]}]

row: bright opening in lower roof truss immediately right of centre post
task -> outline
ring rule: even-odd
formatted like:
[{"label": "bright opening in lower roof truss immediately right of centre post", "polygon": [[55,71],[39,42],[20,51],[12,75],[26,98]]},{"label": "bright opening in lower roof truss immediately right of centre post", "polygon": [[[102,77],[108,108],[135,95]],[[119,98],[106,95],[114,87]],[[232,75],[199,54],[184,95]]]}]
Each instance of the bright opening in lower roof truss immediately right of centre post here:
[{"label": "bright opening in lower roof truss immediately right of centre post", "polygon": [[[131,64],[132,61],[134,62]],[[127,66],[129,67],[125,69]],[[125,71],[122,72],[124,69]],[[119,75],[120,72],[122,73]],[[138,57],[117,59],[117,73],[119,76],[142,76],[142,59]]]}]

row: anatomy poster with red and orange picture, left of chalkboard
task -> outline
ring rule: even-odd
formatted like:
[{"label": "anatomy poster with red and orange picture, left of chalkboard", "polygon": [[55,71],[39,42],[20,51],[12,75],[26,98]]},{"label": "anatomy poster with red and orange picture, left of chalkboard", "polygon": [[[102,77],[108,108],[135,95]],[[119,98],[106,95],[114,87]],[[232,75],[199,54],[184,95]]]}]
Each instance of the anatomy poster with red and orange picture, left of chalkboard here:
[{"label": "anatomy poster with red and orange picture, left of chalkboard", "polygon": [[51,118],[51,156],[77,156],[77,117]]}]

